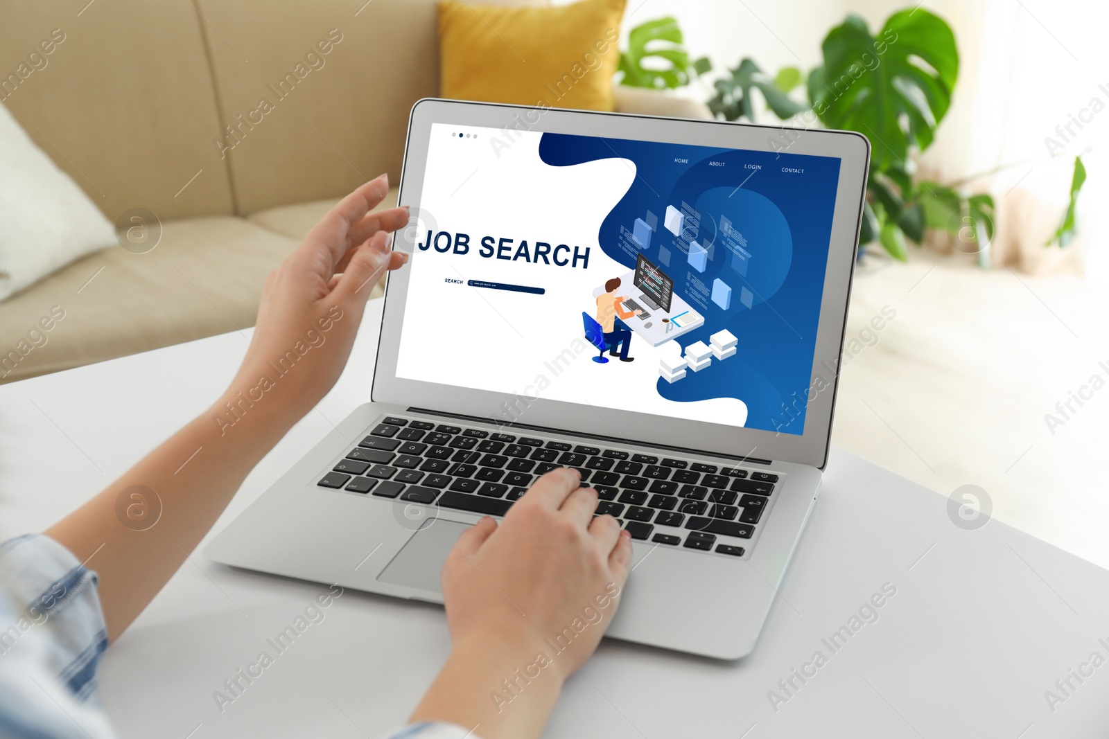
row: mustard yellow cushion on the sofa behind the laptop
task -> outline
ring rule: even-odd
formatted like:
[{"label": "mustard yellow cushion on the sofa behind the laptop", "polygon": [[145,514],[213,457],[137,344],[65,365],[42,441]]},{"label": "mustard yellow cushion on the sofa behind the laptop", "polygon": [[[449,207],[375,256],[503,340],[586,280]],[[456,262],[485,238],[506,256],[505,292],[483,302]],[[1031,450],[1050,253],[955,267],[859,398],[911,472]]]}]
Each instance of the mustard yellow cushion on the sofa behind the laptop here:
[{"label": "mustard yellow cushion on the sofa behind the laptop", "polygon": [[441,95],[612,111],[624,0],[552,8],[439,3]]}]

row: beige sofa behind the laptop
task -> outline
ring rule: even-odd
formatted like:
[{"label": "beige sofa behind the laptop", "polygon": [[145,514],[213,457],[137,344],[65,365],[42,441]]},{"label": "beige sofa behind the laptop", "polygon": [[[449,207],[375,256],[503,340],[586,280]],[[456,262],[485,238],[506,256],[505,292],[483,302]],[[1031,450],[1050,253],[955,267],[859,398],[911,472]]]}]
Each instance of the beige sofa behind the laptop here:
[{"label": "beige sofa behind the laptop", "polygon": [[[0,302],[2,381],[252,326],[265,276],[338,197],[398,181],[408,111],[438,93],[436,2],[359,4],[0,3],[3,104],[110,220],[145,208],[162,229],[147,253],[104,249]],[[47,65],[12,81],[53,29]],[[617,100],[710,115],[653,91]],[[16,361],[54,306],[64,318]]]}]

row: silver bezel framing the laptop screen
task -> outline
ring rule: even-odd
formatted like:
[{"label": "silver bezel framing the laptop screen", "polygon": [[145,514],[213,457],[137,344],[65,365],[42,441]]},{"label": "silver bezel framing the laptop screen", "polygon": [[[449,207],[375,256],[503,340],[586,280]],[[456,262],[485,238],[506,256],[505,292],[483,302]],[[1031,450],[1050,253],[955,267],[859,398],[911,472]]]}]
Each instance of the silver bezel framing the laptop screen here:
[{"label": "silver bezel framing the laptop screen", "polygon": [[[813,358],[813,378],[820,369],[838,367],[843,350],[851,278],[858,245],[866,173],[871,145],[865,136],[849,131],[794,129],[722,121],[664,119],[624,113],[569,111],[526,105],[476,103],[428,97],[411,110],[405,161],[400,177],[398,204],[409,206],[413,217],[420,215],[419,198],[424,189],[428,142],[433,123],[489,129],[526,127],[536,132],[554,132],[608,138],[631,138],[673,144],[782,151],[791,154],[833,156],[841,160],[832,235],[824,275],[820,322]],[[776,142],[776,143],[775,143]],[[786,143],[786,146],[782,146]],[[427,214],[426,214],[427,215]],[[434,216],[434,214],[431,214]],[[413,256],[416,230],[401,229],[394,234],[393,248]],[[521,397],[511,391],[492,392],[397,377],[397,353],[404,330],[404,309],[408,294],[408,270],[390,273],[381,314],[377,362],[370,398],[379,402],[437,410],[459,415],[489,419],[508,424],[518,417],[512,409],[520,407]],[[584,340],[584,339],[583,339]],[[490,357],[490,360],[495,360]],[[449,372],[449,358],[442,362]],[[447,379],[446,377],[444,378]],[[815,381],[815,380],[812,380]],[[645,442],[676,449],[708,452],[735,458],[782,460],[823,468],[828,442],[838,371],[831,388],[810,392],[804,432],[775,433],[760,429],[685,419],[661,417],[588,403],[525,398],[528,425],[572,431],[583,434]],[[462,392],[459,392],[464,390]],[[831,390],[831,392],[828,391]]]}]

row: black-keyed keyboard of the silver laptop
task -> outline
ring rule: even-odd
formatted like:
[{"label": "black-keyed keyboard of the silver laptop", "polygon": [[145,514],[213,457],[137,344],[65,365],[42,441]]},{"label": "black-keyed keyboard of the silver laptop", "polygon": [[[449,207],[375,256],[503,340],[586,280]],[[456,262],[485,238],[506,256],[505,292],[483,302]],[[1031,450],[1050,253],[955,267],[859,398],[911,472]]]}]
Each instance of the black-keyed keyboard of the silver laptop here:
[{"label": "black-keyed keyboard of the silver laptop", "polygon": [[633,540],[744,556],[779,475],[600,445],[387,415],[317,483],[503,516],[539,475],[581,472]]}]

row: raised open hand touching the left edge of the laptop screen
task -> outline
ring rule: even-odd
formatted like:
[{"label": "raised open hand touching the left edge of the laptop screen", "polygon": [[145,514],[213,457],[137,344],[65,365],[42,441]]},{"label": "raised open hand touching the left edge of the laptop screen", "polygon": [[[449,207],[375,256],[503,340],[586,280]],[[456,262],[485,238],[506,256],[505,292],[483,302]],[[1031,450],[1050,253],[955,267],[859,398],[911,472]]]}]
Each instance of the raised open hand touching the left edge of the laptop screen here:
[{"label": "raised open hand touching the left edge of the laptop screen", "polygon": [[295,421],[335,384],[370,291],[408,260],[389,247],[408,209],[369,213],[388,188],[383,174],[344,197],[266,279],[254,338],[226,393],[233,406],[236,393],[263,394]]}]

